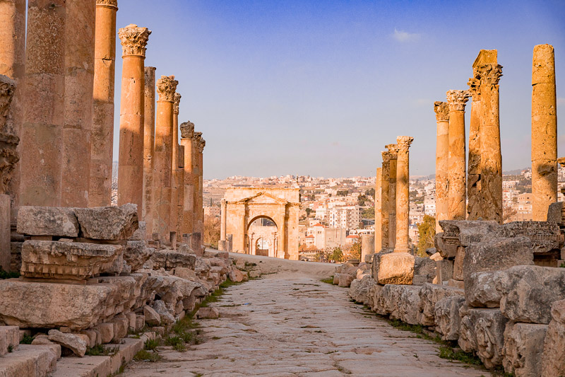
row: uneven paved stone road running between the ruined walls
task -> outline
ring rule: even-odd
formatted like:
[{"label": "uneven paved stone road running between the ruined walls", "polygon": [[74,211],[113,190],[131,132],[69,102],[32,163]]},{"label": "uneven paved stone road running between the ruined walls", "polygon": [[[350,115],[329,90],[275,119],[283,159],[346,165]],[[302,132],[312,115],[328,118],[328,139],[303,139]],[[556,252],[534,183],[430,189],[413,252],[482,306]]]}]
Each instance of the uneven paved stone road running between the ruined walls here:
[{"label": "uneven paved stone road running between the ruined walls", "polygon": [[349,301],[347,290],[308,277],[269,275],[231,287],[221,318],[203,320],[206,342],[133,363],[125,376],[481,376],[437,355]]}]

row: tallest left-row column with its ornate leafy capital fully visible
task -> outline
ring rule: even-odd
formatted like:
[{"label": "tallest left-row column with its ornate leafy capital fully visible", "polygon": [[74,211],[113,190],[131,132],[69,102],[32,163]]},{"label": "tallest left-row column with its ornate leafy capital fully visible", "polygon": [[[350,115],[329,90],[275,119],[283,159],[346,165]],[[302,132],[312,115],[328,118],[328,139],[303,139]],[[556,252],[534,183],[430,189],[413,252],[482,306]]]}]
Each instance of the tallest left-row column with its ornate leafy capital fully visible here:
[{"label": "tallest left-row column with its ornate leafy capital fully visible", "polygon": [[119,30],[124,50],[119,113],[118,205],[137,204],[143,214],[143,112],[145,46],[151,31],[128,25]]}]

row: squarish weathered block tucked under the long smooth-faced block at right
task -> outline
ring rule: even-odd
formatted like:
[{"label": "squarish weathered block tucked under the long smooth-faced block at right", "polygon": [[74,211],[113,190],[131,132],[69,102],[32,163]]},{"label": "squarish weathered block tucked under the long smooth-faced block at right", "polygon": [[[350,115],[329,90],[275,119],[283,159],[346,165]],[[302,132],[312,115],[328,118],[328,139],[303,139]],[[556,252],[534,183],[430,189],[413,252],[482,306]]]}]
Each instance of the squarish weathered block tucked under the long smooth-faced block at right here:
[{"label": "squarish weathered block tucked under the long smooth-faced block at right", "polygon": [[474,308],[499,308],[505,274],[506,270],[470,274],[465,286],[468,305]]}]

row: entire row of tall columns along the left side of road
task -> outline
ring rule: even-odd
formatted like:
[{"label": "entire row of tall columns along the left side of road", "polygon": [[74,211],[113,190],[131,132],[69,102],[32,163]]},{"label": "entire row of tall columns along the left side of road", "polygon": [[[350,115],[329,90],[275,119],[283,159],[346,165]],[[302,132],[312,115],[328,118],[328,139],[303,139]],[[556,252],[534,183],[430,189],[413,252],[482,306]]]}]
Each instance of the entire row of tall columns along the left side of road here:
[{"label": "entire row of tall columns along the left side of road", "polygon": [[[117,10],[117,0],[29,0],[26,39],[25,0],[0,1],[0,74],[16,88],[2,132],[20,137],[23,151],[7,189],[13,218],[20,205],[111,204]],[[137,204],[148,239],[168,242],[203,232],[206,141],[191,124],[179,145],[178,82],[155,81],[145,67],[150,34],[137,25],[118,31],[117,196]]]}]

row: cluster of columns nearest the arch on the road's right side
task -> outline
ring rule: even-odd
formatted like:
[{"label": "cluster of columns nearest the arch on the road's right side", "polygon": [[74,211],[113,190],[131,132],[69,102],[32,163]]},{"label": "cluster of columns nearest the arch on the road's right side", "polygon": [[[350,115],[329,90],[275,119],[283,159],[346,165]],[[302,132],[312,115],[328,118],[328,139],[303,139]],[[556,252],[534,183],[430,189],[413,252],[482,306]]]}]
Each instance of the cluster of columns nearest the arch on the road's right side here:
[{"label": "cluster of columns nearest the arch on the road's right side", "polygon": [[413,137],[399,136],[396,144],[386,145],[383,165],[375,180],[375,253],[392,249],[410,250],[410,144]]}]

